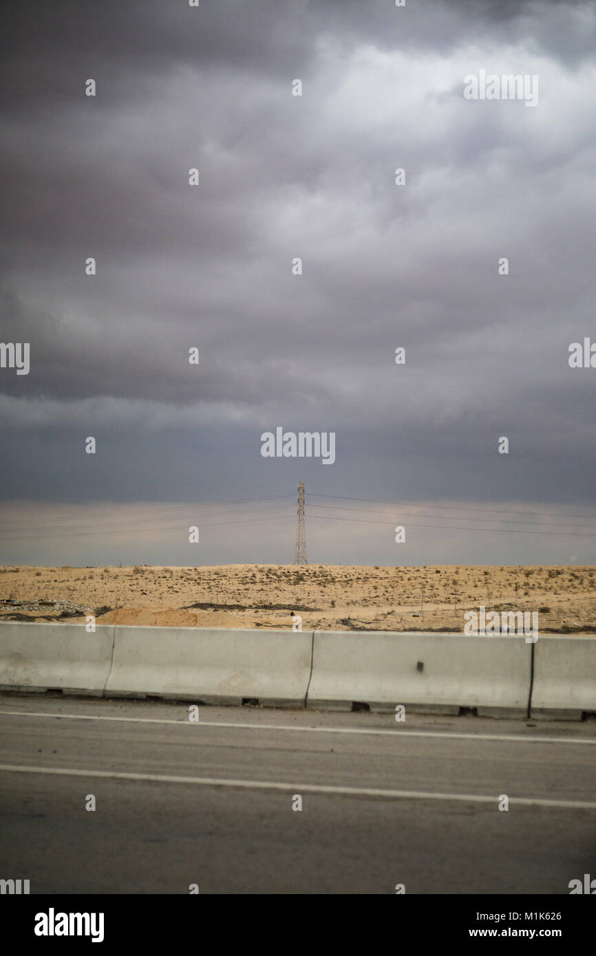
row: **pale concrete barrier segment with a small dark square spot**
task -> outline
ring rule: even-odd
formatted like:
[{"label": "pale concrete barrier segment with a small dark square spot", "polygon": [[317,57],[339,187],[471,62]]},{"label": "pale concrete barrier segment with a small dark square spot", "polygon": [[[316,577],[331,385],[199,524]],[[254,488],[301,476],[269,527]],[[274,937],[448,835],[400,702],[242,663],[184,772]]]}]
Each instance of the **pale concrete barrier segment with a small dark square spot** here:
[{"label": "pale concrete barrier segment with a small dark square spot", "polygon": [[514,636],[317,631],[306,706],[524,716],[531,654]]}]

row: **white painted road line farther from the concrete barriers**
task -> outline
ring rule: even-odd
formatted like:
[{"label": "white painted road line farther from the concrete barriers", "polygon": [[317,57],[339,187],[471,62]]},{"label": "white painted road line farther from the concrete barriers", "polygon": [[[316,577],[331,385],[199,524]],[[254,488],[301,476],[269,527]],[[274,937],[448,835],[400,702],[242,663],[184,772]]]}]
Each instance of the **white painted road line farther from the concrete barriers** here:
[{"label": "white painted road line farther from the concrete barriers", "polygon": [[[149,783],[181,783],[195,787],[232,787],[241,790],[280,790],[294,793],[335,793],[343,796],[377,796],[386,799],[409,800],[458,800],[463,803],[495,803],[500,796],[484,796],[479,793],[426,793],[410,790],[378,790],[364,787],[329,787],[312,783],[278,783],[273,780],[228,780],[217,777],[185,777],[168,773],[132,773],[117,771],[71,770],[64,767],[22,767],[0,764],[0,771],[12,773],[44,773],[56,776],[92,776],[108,780],[140,780]],[[544,800],[541,797],[509,797],[509,803],[525,807],[559,807],[568,810],[596,810],[596,803],[585,800]]]}]

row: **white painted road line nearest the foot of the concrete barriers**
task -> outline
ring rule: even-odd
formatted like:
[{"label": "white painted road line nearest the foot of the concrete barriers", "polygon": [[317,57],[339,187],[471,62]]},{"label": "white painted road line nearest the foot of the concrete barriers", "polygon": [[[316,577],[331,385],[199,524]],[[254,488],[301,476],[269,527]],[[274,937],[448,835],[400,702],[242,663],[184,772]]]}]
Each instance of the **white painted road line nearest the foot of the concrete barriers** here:
[{"label": "white painted road line nearest the foot of the concrete barriers", "polygon": [[515,733],[457,733],[434,730],[386,730],[383,728],[343,728],[343,727],[294,727],[289,724],[235,724],[233,721],[189,721],[165,720],[157,717],[108,717],[93,714],[51,714],[33,710],[0,710],[0,714],[11,717],[47,717],[52,720],[106,720],[121,721],[128,724],[176,724],[178,727],[228,727],[245,730],[294,730],[304,733],[356,733],[388,737],[440,737],[449,740],[498,740],[533,744],[592,744],[596,737],[539,737],[531,734]]}]

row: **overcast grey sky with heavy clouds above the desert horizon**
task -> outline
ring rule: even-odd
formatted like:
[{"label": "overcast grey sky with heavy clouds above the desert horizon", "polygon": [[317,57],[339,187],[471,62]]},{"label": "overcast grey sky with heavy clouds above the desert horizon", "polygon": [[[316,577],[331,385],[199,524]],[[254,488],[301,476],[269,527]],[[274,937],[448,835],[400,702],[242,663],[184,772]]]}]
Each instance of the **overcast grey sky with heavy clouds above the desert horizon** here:
[{"label": "overcast grey sky with heavy clouds above the desert horizon", "polygon": [[0,561],[594,562],[594,2],[3,16]]}]

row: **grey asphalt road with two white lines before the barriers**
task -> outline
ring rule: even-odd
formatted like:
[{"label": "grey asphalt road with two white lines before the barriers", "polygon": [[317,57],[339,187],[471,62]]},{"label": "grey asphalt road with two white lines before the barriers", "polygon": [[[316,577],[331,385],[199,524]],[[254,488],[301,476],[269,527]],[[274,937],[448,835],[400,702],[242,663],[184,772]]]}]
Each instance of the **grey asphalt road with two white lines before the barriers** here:
[{"label": "grey asphalt road with two white lines before the barriers", "polygon": [[596,874],[595,758],[592,722],[0,696],[0,879],[568,894]]}]

